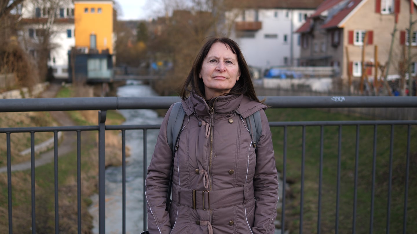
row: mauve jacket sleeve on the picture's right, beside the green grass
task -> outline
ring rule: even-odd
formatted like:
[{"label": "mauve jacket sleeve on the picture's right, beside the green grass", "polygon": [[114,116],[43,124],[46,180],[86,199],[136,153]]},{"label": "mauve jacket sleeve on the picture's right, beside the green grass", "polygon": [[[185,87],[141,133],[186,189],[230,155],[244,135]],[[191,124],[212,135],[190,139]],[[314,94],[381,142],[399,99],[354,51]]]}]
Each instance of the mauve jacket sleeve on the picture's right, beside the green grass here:
[{"label": "mauve jacket sleeve on the picture's right, beside the green grass", "polygon": [[271,130],[264,110],[260,110],[262,134],[257,145],[254,175],[255,219],[254,234],[273,234],[278,202],[278,177]]}]

